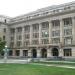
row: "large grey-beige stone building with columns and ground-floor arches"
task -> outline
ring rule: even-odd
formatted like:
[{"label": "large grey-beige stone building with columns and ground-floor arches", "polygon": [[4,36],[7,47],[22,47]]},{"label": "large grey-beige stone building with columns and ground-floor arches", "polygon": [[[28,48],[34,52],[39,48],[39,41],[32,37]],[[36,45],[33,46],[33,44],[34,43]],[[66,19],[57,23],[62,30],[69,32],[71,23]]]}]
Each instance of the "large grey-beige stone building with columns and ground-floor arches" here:
[{"label": "large grey-beige stone building with columns and ground-floor arches", "polygon": [[75,2],[41,8],[15,18],[0,16],[0,37],[9,55],[75,57]]}]

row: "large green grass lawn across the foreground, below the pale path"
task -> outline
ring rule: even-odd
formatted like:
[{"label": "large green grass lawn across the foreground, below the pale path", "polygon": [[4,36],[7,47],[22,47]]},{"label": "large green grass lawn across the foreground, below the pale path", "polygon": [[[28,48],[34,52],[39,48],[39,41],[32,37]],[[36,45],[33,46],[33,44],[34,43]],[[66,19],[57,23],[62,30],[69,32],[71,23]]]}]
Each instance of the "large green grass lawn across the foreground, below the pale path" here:
[{"label": "large green grass lawn across the foreground, below the pale path", "polygon": [[75,75],[75,69],[32,64],[0,64],[0,75]]}]

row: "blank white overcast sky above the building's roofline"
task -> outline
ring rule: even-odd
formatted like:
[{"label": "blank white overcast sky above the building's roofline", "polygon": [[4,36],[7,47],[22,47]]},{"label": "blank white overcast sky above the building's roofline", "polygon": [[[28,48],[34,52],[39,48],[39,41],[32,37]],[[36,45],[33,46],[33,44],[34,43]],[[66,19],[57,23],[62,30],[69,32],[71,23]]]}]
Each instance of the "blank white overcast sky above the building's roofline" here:
[{"label": "blank white overcast sky above the building's roofline", "polygon": [[0,15],[16,17],[40,8],[72,1],[75,0],[0,0]]}]

